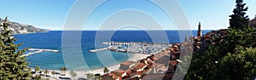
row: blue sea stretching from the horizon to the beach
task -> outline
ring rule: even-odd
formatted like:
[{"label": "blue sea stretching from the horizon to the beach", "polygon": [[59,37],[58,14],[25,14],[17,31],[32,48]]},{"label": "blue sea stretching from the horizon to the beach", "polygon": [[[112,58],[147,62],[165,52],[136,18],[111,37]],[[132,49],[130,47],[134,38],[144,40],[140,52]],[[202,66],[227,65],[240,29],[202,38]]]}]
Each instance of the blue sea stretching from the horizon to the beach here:
[{"label": "blue sea stretching from the horizon to the beach", "polygon": [[[202,31],[202,34],[207,33],[209,30]],[[50,70],[59,70],[60,67],[67,65],[63,60],[63,49],[68,49],[69,52],[74,53],[69,55],[73,57],[73,60],[76,58],[83,58],[86,64],[85,66],[69,66],[70,69],[79,69],[79,70],[88,70],[102,68],[104,66],[112,66],[118,64],[129,58],[129,54],[119,53],[119,52],[110,52],[113,57],[113,60],[100,60],[99,55],[104,55],[102,53],[90,53],[90,49],[98,49],[107,47],[103,45],[103,42],[148,42],[148,43],[180,43],[183,42],[184,36],[180,37],[180,31],[49,31],[44,33],[32,33],[32,34],[18,34],[15,35],[17,41],[15,43],[22,43],[19,49],[32,48],[32,49],[57,49],[60,50],[59,53],[53,52],[42,52],[39,54],[32,54],[27,56],[27,62],[30,63],[30,67],[40,66],[41,69],[50,69]],[[184,32],[184,31],[183,31]],[[187,31],[191,32],[190,36],[196,36],[196,31]],[[79,40],[74,40],[74,35],[68,35],[67,33],[79,34],[75,35],[80,38]],[[164,33],[164,34],[163,34]],[[65,34],[65,35],[64,35]],[[65,39],[70,38],[70,42],[66,45],[71,45],[63,47],[63,37]],[[168,39],[166,41],[166,38]],[[68,41],[68,40],[67,40]],[[79,48],[73,48],[73,44],[79,42]],[[77,50],[80,49],[80,50]],[[29,53],[26,51],[25,54]],[[76,56],[76,53],[81,53],[82,56]],[[109,54],[108,54],[109,55]],[[106,56],[107,57],[107,56]],[[104,63],[102,63],[104,62]],[[84,63],[81,63],[84,64]]]}]

